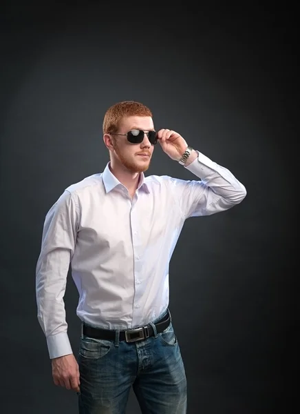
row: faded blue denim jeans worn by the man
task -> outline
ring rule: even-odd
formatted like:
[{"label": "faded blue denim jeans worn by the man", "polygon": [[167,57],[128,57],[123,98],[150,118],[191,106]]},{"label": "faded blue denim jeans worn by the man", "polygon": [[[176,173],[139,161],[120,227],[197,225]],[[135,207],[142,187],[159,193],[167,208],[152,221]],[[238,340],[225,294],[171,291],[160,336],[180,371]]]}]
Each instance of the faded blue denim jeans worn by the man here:
[{"label": "faded blue denim jeans worn by the man", "polygon": [[[158,319],[167,314],[164,311]],[[125,414],[131,386],[142,414],[186,414],[186,375],[172,322],[138,342],[81,335],[80,414]]]}]

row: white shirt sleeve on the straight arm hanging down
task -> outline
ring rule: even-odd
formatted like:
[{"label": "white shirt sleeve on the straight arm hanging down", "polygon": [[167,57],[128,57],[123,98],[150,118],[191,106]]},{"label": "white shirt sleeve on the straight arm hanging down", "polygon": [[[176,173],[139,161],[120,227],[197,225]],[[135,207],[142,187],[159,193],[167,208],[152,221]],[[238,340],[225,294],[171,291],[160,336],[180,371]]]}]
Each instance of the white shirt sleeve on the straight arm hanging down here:
[{"label": "white shirt sleeve on the straight arm hanging down", "polygon": [[78,205],[73,193],[65,190],[45,217],[41,253],[36,264],[37,316],[50,358],[72,353],[63,297],[76,245],[77,222]]}]

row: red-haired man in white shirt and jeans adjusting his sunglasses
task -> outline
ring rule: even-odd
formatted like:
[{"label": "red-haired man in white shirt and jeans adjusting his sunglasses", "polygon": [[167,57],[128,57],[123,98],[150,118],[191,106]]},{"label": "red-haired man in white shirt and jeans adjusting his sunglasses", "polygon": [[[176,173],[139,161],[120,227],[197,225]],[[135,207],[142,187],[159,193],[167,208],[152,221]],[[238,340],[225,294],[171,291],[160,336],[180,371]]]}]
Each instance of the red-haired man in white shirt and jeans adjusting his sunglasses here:
[{"label": "red-haired man in white shirt and jeans adjusting his sunglasses", "polygon": [[[131,386],[142,413],[184,414],[169,261],[188,217],[231,208],[246,190],[178,132],[155,132],[142,103],[111,106],[103,134],[110,154],[104,172],[69,186],[45,217],[36,299],[54,383],[77,391],[81,414],[125,413]],[[157,142],[199,180],[144,177]],[[63,302],[70,263],[82,321],[77,359]]]}]

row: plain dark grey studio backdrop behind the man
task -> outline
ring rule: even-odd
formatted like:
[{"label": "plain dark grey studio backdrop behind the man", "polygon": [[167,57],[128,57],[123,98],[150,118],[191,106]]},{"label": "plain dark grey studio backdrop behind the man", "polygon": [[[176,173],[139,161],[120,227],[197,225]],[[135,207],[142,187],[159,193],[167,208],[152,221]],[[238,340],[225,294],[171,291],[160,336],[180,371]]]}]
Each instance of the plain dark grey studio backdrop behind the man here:
[{"label": "plain dark grey studio backdrop behind the man", "polygon": [[[246,186],[239,206],[186,221],[170,309],[188,413],[288,412],[297,393],[297,25],[281,5],[7,1],[1,12],[1,399],[3,413],[76,413],[54,386],[36,319],[47,210],[109,160],[111,104],[142,101]],[[146,173],[195,177],[158,146]],[[77,352],[78,295],[65,303]],[[133,394],[127,413],[140,413]],[[172,414],[172,413],[170,413]]]}]

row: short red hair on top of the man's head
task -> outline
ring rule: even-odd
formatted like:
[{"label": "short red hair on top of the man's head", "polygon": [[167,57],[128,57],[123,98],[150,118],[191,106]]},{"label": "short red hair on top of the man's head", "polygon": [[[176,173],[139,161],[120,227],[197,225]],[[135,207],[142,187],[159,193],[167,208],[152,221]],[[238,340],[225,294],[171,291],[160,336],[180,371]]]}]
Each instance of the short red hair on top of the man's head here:
[{"label": "short red hair on top of the man's head", "polygon": [[140,102],[122,101],[115,103],[105,112],[103,134],[118,132],[119,122],[124,117],[152,117],[151,110]]}]

